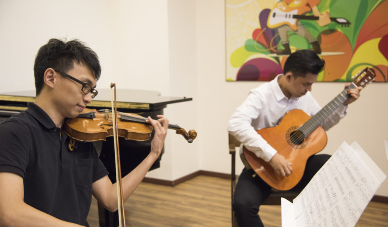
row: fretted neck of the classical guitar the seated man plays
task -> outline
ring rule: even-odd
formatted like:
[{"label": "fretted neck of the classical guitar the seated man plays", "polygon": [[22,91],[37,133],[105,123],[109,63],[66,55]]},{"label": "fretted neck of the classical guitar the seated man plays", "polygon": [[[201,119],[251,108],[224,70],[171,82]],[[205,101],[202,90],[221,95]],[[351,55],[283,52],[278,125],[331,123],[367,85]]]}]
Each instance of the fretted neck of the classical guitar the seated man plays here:
[{"label": "fretted neck of the classical guitar the seated man plays", "polygon": [[304,133],[305,137],[310,135],[318,126],[320,126],[342,103],[348,99],[348,90],[356,88],[354,83],[339,93],[333,100],[327,103],[319,112],[311,117],[299,130]]}]

